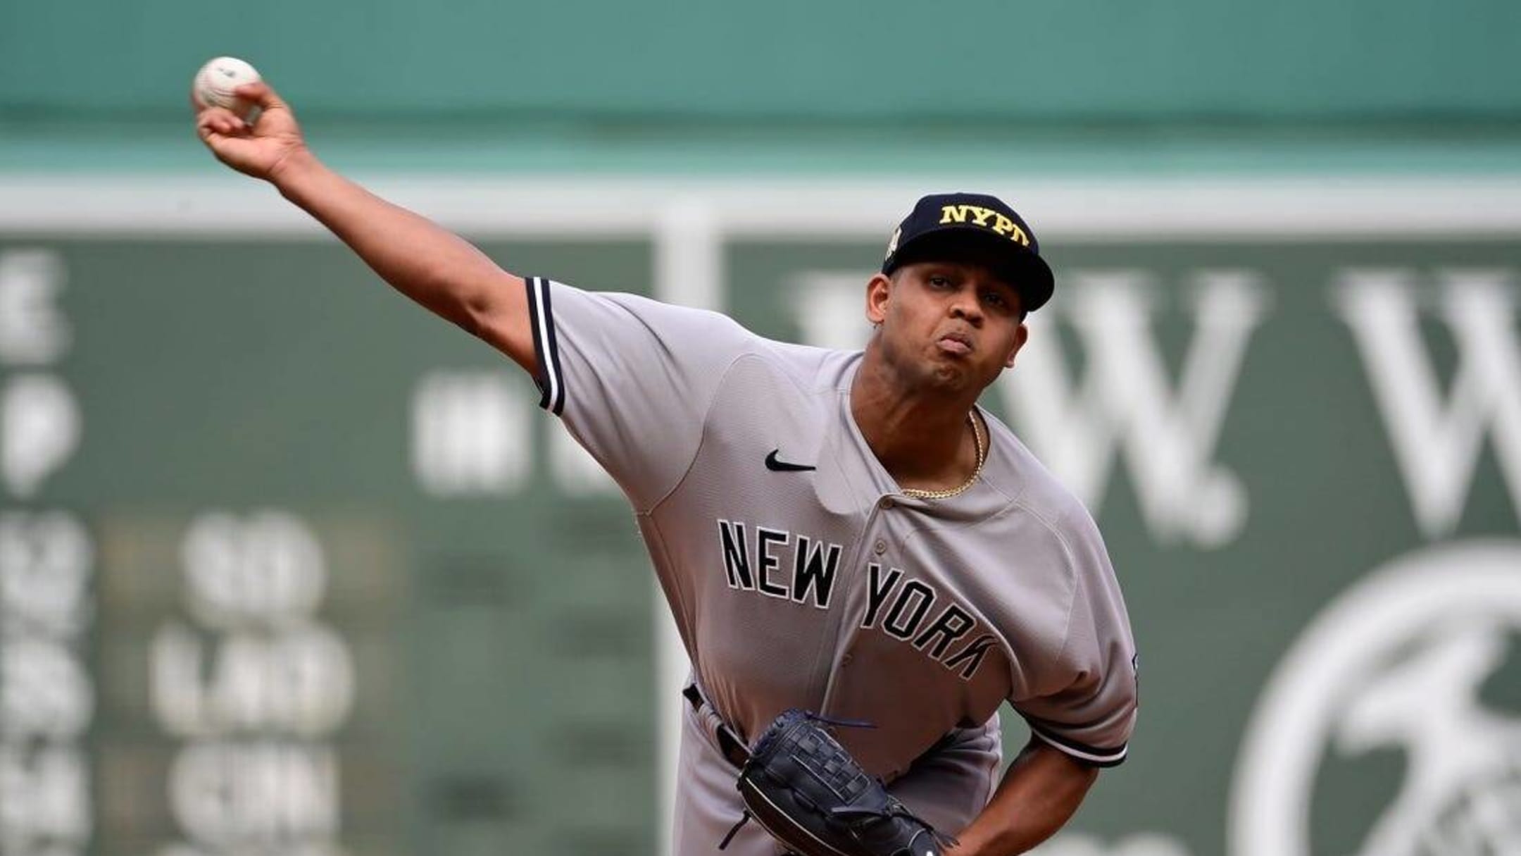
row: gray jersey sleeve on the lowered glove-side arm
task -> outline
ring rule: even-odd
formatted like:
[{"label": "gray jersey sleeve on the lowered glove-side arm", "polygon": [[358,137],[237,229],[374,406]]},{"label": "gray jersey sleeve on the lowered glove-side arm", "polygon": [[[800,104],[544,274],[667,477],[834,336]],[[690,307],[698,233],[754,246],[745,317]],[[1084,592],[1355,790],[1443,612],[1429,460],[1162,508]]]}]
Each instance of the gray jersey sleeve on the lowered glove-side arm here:
[{"label": "gray jersey sleeve on the lowered glove-side arm", "polygon": [[1013,702],[1036,737],[1091,766],[1126,760],[1139,707],[1138,658],[1119,583],[1088,512],[1063,533],[1072,561],[1072,605],[1062,653],[1051,664],[1063,688]]}]

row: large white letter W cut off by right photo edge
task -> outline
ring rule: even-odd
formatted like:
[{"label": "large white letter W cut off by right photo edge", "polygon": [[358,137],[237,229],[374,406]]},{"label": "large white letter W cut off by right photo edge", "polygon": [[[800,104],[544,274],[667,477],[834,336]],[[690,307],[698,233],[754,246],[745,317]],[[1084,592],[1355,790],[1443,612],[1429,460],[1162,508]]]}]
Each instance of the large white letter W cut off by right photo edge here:
[{"label": "large white letter W cut off by right photo edge", "polygon": [[[1521,341],[1513,271],[1453,270],[1437,274],[1434,300],[1422,300],[1407,270],[1348,271],[1334,291],[1367,367],[1427,538],[1451,535],[1463,515],[1488,434],[1521,519]],[[1450,391],[1421,337],[1422,311],[1451,332],[1457,367]]]}]

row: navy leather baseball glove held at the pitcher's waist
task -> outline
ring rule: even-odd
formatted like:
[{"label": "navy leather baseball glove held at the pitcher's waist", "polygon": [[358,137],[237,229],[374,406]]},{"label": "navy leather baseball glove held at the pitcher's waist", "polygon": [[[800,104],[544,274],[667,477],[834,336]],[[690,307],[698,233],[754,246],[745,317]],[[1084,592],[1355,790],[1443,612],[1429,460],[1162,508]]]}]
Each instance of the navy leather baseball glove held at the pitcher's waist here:
[{"label": "navy leather baseball glove held at the pitcher's waist", "polygon": [[940,856],[955,839],[935,832],[867,775],[824,725],[802,710],[779,716],[739,771],[745,816],[797,856]]}]

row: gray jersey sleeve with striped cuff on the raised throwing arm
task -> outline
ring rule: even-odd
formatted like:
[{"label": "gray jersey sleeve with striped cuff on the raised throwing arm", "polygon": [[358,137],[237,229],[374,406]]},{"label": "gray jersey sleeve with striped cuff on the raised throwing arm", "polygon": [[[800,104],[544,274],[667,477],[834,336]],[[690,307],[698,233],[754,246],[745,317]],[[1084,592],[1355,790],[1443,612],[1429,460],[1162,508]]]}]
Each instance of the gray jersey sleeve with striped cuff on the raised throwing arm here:
[{"label": "gray jersey sleeve with striped cuff on the raised throwing arm", "polygon": [[538,405],[646,510],[680,481],[754,335],[718,312],[529,277]]}]

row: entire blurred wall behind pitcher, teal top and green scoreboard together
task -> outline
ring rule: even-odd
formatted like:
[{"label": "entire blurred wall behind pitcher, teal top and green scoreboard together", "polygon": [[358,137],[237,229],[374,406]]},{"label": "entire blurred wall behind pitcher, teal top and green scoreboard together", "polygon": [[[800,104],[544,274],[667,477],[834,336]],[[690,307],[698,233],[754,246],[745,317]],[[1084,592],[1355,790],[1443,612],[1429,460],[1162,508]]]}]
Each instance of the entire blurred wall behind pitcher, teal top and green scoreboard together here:
[{"label": "entire blurred wall behind pitcher, teal top and green scoreboard together", "polygon": [[786,340],[1001,195],[1059,288],[986,404],[1142,660],[1042,853],[1521,853],[1516,3],[0,0],[0,854],[665,847],[616,487],[213,161],[218,55],[503,267]]}]

